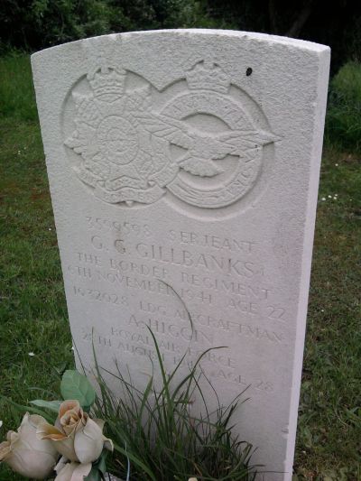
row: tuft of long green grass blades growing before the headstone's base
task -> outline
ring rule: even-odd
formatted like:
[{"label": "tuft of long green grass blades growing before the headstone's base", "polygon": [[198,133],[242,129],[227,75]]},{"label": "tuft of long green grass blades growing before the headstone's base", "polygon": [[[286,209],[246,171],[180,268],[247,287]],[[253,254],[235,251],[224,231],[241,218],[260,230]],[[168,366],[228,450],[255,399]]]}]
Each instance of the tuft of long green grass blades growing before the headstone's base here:
[{"label": "tuft of long green grass blades growing before the headstone's base", "polygon": [[[184,481],[197,476],[208,481],[254,481],[256,467],[251,464],[253,447],[232,433],[232,415],[237,409],[240,395],[228,407],[221,406],[209,412],[202,393],[207,379],[198,374],[198,361],[189,374],[180,374],[180,363],[171,374],[165,372],[153,332],[157,365],[154,371],[162,373],[162,384],[156,387],[153,377],[143,391],[139,391],[121,369],[109,373],[97,365],[97,382],[101,396],[97,398],[97,417],[106,419],[106,435],[114,441],[115,454],[110,470],[122,479],[134,481]],[[107,380],[104,375],[108,375]],[[109,390],[108,382],[116,382],[117,398]],[[218,399],[214,391],[215,399]],[[193,397],[202,405],[198,414],[192,414]]]}]

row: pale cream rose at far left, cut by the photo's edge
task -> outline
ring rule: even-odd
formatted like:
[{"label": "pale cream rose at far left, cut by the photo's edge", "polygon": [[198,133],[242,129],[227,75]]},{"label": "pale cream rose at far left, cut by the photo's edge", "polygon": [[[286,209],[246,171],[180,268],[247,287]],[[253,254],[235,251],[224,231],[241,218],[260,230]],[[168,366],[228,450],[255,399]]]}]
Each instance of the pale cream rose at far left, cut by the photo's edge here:
[{"label": "pale cream rose at far left, cut by the photo's edge", "polygon": [[46,422],[42,416],[23,416],[17,432],[9,431],[7,440],[0,444],[0,461],[25,477],[45,479],[51,475],[59,453],[47,439],[38,439],[36,430]]}]

